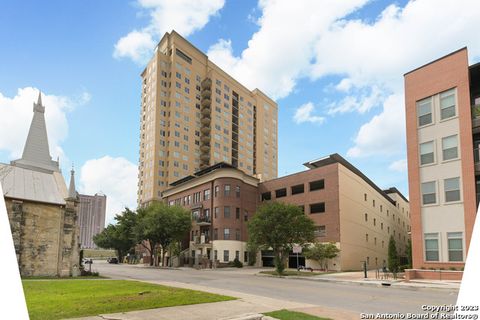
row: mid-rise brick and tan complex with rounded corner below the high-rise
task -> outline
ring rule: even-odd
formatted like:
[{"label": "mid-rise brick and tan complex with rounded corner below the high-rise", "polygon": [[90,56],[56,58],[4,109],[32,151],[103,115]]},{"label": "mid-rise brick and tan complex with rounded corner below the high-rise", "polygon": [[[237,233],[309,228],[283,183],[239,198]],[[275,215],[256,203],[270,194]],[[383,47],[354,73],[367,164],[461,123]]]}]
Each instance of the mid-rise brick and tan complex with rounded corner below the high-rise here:
[{"label": "mid-rise brick and tan complex with rounded corner below the high-rise", "polygon": [[[315,222],[317,240],[336,243],[341,253],[329,269],[358,270],[362,261],[371,269],[382,267],[390,235],[405,253],[409,204],[397,189],[381,190],[338,154],[305,165],[309,170],[260,182],[220,163],[174,182],[163,196],[169,205],[192,211],[190,255],[196,261],[247,263],[247,223],[270,200],[302,207]],[[273,265],[272,252],[259,253],[257,264]],[[319,268],[301,255],[299,264]],[[291,254],[289,267],[296,266]]]}]

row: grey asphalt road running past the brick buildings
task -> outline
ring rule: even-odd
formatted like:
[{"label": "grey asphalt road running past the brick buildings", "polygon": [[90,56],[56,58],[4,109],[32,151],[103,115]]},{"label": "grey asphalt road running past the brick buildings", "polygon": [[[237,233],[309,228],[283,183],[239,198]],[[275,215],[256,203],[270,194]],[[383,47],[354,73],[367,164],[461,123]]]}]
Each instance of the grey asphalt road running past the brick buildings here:
[{"label": "grey asphalt road running past the brick buildings", "polygon": [[250,269],[152,269],[95,261],[92,270],[114,279],[176,281],[358,313],[421,313],[422,305],[455,304],[458,292],[261,277]]}]

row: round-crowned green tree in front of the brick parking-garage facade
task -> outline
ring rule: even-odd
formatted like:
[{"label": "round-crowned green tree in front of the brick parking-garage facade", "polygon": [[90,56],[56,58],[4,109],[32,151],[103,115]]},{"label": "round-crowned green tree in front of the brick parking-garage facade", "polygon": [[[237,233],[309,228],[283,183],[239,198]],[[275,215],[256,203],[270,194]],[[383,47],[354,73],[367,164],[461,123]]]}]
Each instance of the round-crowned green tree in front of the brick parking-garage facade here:
[{"label": "round-crowned green tree in front of the brick parking-garage facade", "polygon": [[314,231],[313,221],[299,207],[275,201],[260,206],[248,223],[250,246],[272,248],[279,274],[285,269],[285,259],[292,246],[313,242]]}]

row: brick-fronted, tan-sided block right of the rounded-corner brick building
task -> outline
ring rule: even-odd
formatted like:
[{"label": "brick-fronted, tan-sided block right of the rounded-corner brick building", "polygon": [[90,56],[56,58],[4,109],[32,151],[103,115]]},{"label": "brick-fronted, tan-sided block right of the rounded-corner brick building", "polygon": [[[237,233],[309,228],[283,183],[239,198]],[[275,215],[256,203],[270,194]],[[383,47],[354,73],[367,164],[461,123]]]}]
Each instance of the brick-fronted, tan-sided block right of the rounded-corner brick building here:
[{"label": "brick-fronted, tan-sided block right of the rounded-corner brick building", "polygon": [[[383,267],[390,236],[397,251],[405,255],[410,209],[408,200],[396,188],[380,189],[338,154],[304,165],[309,170],[260,183],[260,200],[300,206],[315,222],[317,241],[334,242],[340,249],[329,269],[358,270],[362,261],[369,269]],[[295,261],[296,256],[291,254],[290,266]],[[319,268],[314,261],[305,263]]]}]

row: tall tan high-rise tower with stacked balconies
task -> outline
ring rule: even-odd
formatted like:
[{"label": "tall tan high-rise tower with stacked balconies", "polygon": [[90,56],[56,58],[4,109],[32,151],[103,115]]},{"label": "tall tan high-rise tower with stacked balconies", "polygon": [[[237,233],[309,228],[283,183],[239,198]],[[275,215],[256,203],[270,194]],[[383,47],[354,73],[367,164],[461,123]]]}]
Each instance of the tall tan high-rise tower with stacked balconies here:
[{"label": "tall tan high-rise tower with stacked balconies", "polygon": [[277,177],[277,104],[172,31],[141,74],[138,203],[219,162]]}]

